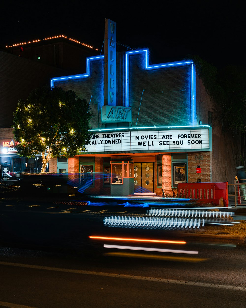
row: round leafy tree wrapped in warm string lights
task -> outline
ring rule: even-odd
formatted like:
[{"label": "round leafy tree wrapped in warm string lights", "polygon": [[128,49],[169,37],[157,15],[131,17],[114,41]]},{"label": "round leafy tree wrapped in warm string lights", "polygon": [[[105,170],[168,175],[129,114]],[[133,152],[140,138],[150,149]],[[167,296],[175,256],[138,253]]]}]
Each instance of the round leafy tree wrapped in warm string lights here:
[{"label": "round leafy tree wrapped in warm string lights", "polygon": [[85,151],[91,138],[89,103],[72,90],[39,87],[14,112],[15,149],[27,158],[42,155],[45,172],[51,157],[73,157]]}]

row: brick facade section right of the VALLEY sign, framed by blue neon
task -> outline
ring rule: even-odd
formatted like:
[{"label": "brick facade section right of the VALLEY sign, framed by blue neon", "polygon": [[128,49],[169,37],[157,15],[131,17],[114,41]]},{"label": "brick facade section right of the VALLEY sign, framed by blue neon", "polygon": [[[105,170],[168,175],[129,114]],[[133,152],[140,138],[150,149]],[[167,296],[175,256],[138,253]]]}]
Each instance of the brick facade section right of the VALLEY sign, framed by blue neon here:
[{"label": "brick facade section right of the VALLEY sign, framed by blue neon", "polygon": [[191,125],[190,66],[146,70],[144,54],[128,58],[132,126],[136,125],[136,121],[137,126]]}]

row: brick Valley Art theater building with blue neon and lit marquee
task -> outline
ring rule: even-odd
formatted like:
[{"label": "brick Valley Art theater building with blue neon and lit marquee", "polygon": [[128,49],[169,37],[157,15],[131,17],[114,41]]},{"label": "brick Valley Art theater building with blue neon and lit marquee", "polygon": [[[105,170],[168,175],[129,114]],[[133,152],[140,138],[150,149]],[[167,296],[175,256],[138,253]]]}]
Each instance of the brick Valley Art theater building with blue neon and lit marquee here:
[{"label": "brick Valley Art theater building with blue neon and lit marquee", "polygon": [[[87,151],[66,165],[80,191],[172,196],[179,182],[212,181],[209,97],[192,59],[150,64],[148,49],[117,53],[115,42],[116,24],[105,20],[104,55],[88,57],[81,74],[51,79],[94,115]],[[54,171],[58,164],[50,161]]]}]

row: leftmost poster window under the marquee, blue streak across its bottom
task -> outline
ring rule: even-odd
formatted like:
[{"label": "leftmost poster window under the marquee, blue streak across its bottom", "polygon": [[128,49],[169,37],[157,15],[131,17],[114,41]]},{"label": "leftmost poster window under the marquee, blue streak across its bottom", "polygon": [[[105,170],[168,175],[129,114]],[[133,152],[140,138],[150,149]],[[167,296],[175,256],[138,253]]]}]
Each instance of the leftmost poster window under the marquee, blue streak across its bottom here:
[{"label": "leftmost poster window under the marquee, blue streak across its bottom", "polygon": [[81,186],[94,187],[95,159],[94,157],[79,158],[79,180]]}]

